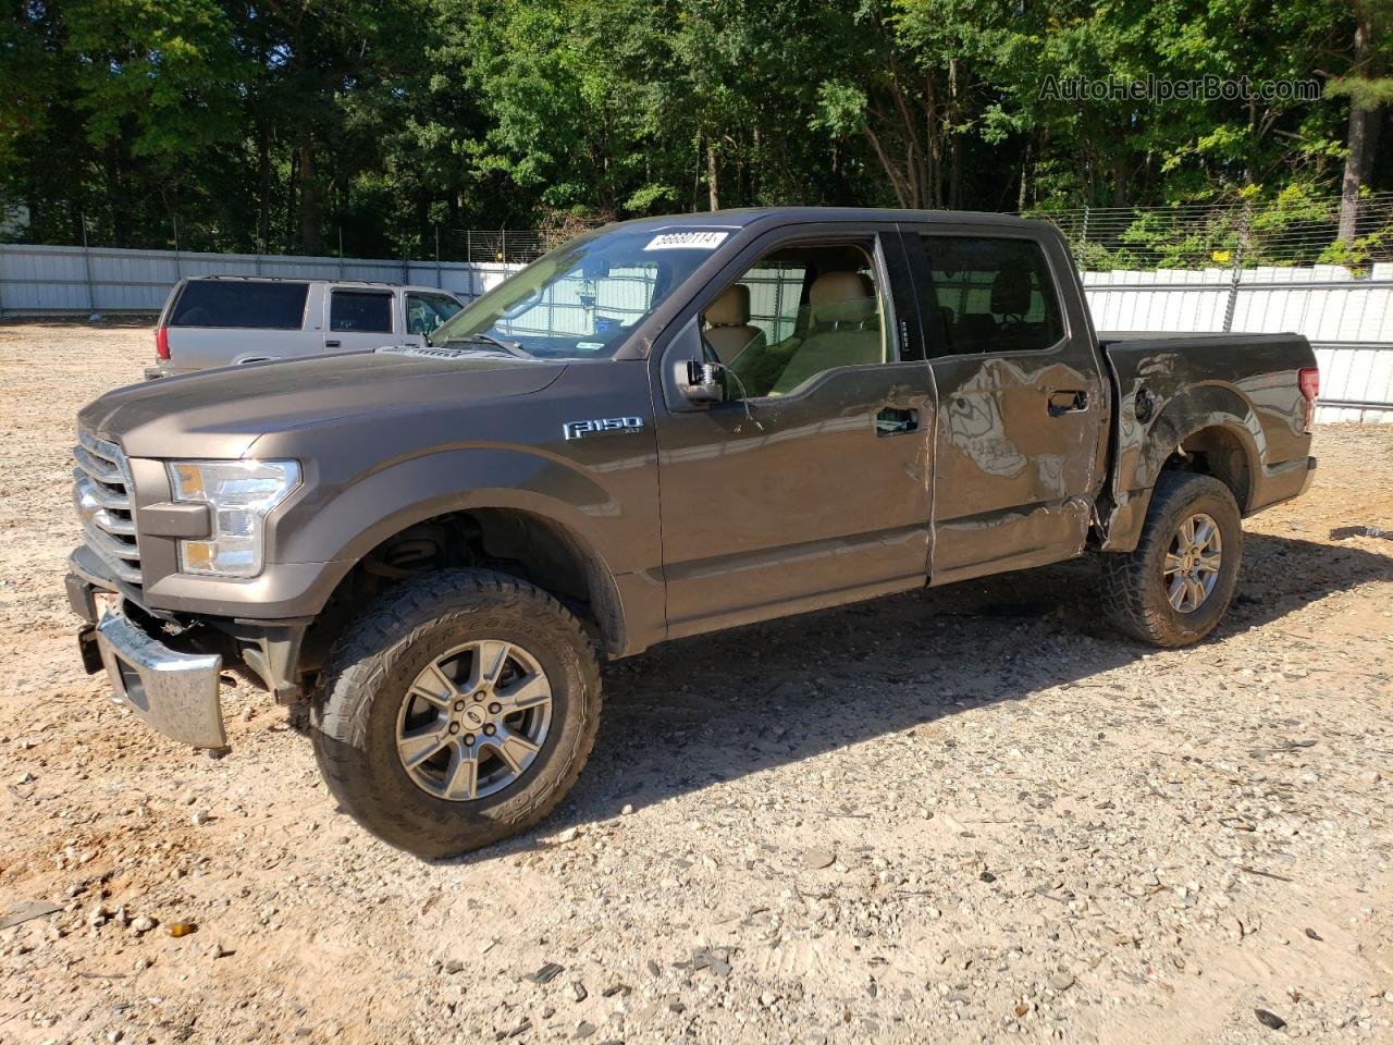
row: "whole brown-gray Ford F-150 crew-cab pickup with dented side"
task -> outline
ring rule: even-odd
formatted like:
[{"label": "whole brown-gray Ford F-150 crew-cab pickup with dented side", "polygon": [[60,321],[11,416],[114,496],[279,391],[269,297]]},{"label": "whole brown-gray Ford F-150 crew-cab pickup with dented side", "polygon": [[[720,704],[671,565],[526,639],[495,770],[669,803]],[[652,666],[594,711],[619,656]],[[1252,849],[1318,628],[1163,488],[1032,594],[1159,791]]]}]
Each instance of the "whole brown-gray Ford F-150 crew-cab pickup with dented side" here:
[{"label": "whole brown-gray Ford F-150 crew-cab pickup with dented side", "polygon": [[1208,635],[1240,520],[1301,493],[1294,334],[1099,340],[1049,224],[777,209],[547,254],[429,347],[117,389],[79,415],[88,670],[226,747],[235,669],[308,705],[340,804],[446,856],[538,822],[598,662],[1055,563]]}]

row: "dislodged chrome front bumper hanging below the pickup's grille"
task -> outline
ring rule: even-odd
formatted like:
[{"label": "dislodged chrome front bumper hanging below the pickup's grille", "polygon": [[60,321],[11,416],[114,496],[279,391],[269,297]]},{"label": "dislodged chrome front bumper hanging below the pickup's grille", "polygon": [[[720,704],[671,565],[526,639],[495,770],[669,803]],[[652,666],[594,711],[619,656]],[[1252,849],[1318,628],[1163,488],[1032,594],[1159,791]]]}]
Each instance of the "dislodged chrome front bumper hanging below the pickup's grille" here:
[{"label": "dislodged chrome front bumper hanging below the pickup's grille", "polygon": [[102,616],[95,638],[117,704],[131,708],[173,740],[194,747],[227,747],[223,705],[217,699],[221,656],[170,649],[127,617],[121,606]]}]

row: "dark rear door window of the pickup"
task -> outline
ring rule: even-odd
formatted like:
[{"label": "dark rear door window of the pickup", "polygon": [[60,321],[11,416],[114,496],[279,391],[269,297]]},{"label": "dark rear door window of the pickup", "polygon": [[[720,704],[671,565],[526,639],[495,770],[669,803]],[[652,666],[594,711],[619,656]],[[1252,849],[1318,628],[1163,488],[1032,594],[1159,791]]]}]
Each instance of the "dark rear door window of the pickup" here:
[{"label": "dark rear door window of the pickup", "polygon": [[922,240],[950,355],[1041,351],[1064,336],[1039,244],[967,235]]}]

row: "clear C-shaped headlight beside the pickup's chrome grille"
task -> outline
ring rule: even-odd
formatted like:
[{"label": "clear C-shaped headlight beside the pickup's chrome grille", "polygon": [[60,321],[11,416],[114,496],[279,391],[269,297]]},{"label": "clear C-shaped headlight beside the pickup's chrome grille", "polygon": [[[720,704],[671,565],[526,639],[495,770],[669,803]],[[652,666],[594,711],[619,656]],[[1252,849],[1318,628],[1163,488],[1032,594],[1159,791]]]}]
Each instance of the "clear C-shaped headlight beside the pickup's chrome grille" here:
[{"label": "clear C-shaped headlight beside the pickup's chrome grille", "polygon": [[298,461],[169,461],[174,499],[208,504],[213,531],[180,541],[180,571],[255,577],[266,516],[299,485]]}]

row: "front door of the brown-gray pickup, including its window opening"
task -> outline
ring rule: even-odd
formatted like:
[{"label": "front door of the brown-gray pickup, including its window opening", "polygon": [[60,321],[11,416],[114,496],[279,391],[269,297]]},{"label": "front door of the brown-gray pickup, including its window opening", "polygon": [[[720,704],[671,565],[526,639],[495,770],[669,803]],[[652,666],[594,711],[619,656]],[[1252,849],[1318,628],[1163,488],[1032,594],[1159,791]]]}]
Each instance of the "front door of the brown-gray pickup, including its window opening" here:
[{"label": "front door of the brown-gray pickup, including its window opening", "polygon": [[730,368],[727,401],[655,396],[669,635],[924,585],[933,396],[905,272],[893,226],[805,231],[660,358],[699,336]]}]

